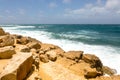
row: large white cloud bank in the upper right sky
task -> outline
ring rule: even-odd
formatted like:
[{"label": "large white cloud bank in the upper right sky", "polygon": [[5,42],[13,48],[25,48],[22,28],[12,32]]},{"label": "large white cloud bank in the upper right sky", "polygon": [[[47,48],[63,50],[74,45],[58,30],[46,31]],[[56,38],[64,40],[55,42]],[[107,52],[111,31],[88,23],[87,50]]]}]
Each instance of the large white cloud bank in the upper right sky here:
[{"label": "large white cloud bank in the upper right sky", "polygon": [[[97,3],[102,4],[101,0],[97,0]],[[118,13],[120,13],[120,0],[107,0],[104,5],[86,4],[82,8],[67,11],[65,15],[75,17],[112,17]]]}]

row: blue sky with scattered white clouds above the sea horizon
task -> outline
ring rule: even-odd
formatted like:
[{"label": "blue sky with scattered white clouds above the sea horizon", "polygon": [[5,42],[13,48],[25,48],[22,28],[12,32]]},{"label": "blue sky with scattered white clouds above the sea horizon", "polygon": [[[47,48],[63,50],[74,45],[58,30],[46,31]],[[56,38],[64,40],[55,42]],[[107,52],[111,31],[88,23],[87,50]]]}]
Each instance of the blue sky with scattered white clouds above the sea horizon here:
[{"label": "blue sky with scattered white clouds above the sea horizon", "polygon": [[0,24],[120,24],[120,0],[0,0]]}]

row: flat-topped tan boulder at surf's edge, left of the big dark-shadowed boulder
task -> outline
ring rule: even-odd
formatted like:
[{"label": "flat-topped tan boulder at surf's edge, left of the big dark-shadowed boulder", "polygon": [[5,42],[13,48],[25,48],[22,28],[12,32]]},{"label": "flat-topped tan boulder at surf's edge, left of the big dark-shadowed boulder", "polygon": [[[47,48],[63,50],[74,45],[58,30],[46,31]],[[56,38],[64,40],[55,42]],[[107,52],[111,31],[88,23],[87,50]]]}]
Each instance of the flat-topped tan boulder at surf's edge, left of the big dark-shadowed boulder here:
[{"label": "flat-topped tan boulder at surf's edge, left of the big dark-shadowed boulder", "polygon": [[68,51],[64,54],[64,56],[68,59],[72,59],[78,61],[82,59],[83,51]]}]

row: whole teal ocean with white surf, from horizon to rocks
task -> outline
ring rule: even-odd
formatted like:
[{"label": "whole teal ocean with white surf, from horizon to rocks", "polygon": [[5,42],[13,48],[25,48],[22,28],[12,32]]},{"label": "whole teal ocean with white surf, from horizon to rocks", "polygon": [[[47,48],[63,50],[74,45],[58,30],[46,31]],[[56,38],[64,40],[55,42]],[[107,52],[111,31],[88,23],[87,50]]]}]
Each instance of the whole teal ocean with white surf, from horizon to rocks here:
[{"label": "whole teal ocean with white surf, from horizon to rocks", "polygon": [[105,66],[120,74],[120,25],[115,24],[16,24],[0,25],[6,32],[36,38],[63,50],[97,55]]}]

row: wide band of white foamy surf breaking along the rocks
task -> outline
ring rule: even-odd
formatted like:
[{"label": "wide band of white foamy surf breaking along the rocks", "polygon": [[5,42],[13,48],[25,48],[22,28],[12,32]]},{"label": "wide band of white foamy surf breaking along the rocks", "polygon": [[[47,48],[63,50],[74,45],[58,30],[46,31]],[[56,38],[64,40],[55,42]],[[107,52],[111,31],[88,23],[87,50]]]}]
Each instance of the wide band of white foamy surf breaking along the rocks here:
[{"label": "wide band of white foamy surf breaking along the rocks", "polygon": [[[69,39],[55,39],[52,37],[52,32],[42,31],[42,30],[22,30],[19,29],[20,26],[16,27],[3,27],[5,31],[10,32],[11,34],[20,34],[24,36],[30,36],[33,38],[36,38],[43,43],[51,43],[60,46],[65,51],[69,50],[82,50],[84,53],[91,53],[97,55],[103,62],[105,66],[109,66],[113,69],[117,70],[117,74],[120,74],[120,48],[119,47],[113,47],[108,45],[89,45],[83,42],[77,42],[72,41]],[[21,28],[24,28],[23,26]],[[27,28],[35,28],[33,27],[27,27]],[[42,26],[42,28],[44,28]],[[88,32],[85,32],[86,34]],[[61,34],[61,36],[65,37],[75,37],[75,35],[64,35]],[[83,37],[85,37],[83,35]]]}]

